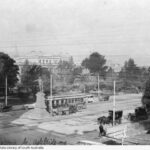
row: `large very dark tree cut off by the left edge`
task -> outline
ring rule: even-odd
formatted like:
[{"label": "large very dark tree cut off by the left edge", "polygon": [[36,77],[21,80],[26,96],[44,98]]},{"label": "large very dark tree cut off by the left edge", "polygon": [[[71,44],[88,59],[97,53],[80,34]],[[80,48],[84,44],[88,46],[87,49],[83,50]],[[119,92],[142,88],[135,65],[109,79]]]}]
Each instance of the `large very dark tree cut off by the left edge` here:
[{"label": "large very dark tree cut off by the left edge", "polygon": [[0,52],[0,83],[1,87],[5,87],[5,78],[7,76],[8,87],[12,88],[16,85],[19,74],[19,67],[15,64],[15,60],[9,55]]}]

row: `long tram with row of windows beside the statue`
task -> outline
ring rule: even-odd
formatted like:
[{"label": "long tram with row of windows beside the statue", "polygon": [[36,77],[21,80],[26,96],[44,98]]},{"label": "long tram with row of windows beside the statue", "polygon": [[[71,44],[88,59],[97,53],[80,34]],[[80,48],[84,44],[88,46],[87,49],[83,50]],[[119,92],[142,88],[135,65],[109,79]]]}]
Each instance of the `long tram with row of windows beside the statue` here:
[{"label": "long tram with row of windows beside the statue", "polygon": [[[61,95],[46,99],[47,110],[53,115],[67,115],[87,107],[87,95]],[[52,109],[52,110],[51,110]]]}]

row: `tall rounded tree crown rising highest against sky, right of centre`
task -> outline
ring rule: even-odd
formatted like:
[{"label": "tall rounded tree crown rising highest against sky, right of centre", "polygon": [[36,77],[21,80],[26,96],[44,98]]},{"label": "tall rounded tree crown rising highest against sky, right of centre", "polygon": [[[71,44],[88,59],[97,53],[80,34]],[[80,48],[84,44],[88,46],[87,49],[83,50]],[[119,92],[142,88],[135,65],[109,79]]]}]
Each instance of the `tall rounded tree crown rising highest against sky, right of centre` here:
[{"label": "tall rounded tree crown rising highest against sky, right of centre", "polygon": [[89,58],[85,58],[82,61],[82,66],[89,69],[91,73],[99,74],[103,77],[106,75],[106,59],[97,52],[92,53]]}]

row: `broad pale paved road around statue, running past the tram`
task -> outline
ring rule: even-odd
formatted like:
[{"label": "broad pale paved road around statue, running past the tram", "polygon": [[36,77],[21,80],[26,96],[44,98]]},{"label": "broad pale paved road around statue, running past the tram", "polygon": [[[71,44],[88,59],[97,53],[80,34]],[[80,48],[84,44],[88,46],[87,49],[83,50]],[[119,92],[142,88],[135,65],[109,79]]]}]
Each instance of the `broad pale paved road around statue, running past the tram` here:
[{"label": "broad pale paved road around statue, running past the tram", "polygon": [[[126,95],[116,98],[116,109],[128,111],[141,105],[141,95]],[[33,140],[38,137],[54,137],[76,143],[79,140],[100,141],[97,138],[97,117],[112,109],[110,102],[88,104],[86,110],[68,116],[57,116],[47,120],[20,119],[26,111],[14,111],[0,114],[0,135],[8,139],[15,139],[18,144],[25,137]],[[127,111],[128,110],[128,111]]]}]

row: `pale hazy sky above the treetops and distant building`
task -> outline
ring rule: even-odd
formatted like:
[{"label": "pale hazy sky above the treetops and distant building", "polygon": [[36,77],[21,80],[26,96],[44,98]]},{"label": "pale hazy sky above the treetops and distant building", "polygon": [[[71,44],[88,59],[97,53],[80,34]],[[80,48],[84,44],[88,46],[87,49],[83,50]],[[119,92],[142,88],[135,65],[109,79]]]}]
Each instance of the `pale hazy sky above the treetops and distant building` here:
[{"label": "pale hazy sky above the treetops and distant building", "polygon": [[24,56],[92,52],[110,64],[150,65],[149,0],[0,0],[0,51]]}]

